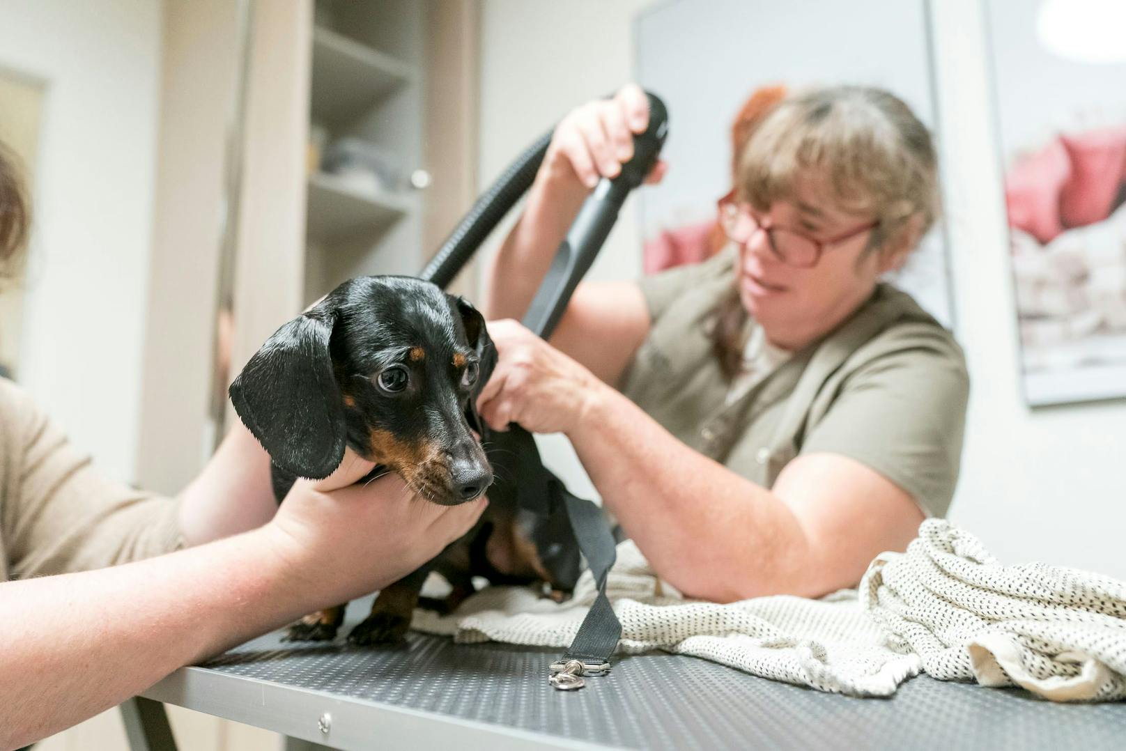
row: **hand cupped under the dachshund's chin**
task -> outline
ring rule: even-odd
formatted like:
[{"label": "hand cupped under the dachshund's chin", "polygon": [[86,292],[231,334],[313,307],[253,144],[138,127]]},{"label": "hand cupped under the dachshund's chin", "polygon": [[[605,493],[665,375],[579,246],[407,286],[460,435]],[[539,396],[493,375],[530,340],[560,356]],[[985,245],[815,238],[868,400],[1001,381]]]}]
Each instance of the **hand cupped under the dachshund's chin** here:
[{"label": "hand cupped under the dachshund's chin", "polygon": [[374,466],[348,449],[329,477],[298,480],[263,528],[295,574],[319,582],[316,607],[402,579],[467,533],[488,504],[438,506],[394,474],[357,485]]}]

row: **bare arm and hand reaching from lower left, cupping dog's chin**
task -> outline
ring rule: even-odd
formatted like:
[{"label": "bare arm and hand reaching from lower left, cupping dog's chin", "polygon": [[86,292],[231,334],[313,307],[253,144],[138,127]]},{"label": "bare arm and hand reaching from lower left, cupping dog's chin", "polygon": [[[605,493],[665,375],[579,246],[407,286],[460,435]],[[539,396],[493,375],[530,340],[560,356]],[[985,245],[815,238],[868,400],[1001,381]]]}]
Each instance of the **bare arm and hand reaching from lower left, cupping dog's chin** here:
[{"label": "bare arm and hand reaching from lower left, cupping dog's chin", "polygon": [[[0,584],[0,748],[69,727],[306,613],[410,573],[484,501],[439,507],[349,455],[268,525],[146,561]],[[391,533],[393,530],[393,534]]]}]

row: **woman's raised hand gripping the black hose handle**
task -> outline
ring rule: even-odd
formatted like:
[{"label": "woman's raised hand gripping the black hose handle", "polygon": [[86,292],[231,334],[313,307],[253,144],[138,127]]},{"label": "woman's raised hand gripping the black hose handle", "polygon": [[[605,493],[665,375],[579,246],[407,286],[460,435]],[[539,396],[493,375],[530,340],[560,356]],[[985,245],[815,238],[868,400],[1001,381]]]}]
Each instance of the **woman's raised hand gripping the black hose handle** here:
[{"label": "woman's raised hand gripping the black hose handle", "polygon": [[[649,125],[649,98],[636,83],[622,87],[611,99],[596,99],[571,110],[555,127],[544,170],[552,180],[568,180],[591,189],[601,177],[614,178],[633,158],[633,136]],[[646,182],[660,182],[668,164],[659,160]]]}]

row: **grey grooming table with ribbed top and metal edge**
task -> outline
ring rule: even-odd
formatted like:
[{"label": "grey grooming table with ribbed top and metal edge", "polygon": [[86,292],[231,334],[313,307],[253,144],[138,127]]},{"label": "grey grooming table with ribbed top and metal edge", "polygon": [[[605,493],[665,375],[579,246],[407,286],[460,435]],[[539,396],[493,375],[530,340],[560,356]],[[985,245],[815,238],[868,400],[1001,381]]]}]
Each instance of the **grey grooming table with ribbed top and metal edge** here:
[{"label": "grey grooming table with ribbed top and metal edge", "polygon": [[161,701],[341,749],[1126,748],[1126,704],[1056,705],[927,676],[892,698],[857,699],[655,653],[619,655],[608,676],[565,692],[547,685],[556,649],[417,633],[375,650],[280,636],[178,670],[122,705],[133,749],[172,748]]}]

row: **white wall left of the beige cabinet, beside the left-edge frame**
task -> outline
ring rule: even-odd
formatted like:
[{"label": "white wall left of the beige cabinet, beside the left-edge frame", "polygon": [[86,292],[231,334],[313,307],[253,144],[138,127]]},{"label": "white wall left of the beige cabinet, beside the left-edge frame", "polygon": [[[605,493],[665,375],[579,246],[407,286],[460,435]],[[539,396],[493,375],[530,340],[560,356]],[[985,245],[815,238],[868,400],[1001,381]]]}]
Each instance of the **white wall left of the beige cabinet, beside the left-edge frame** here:
[{"label": "white wall left of the beige cabinet, beside the left-edge frame", "polygon": [[46,83],[20,381],[123,480],[135,470],[161,10],[0,3],[0,65]]}]

